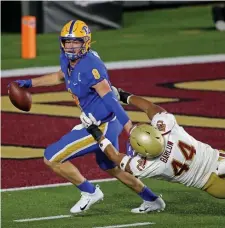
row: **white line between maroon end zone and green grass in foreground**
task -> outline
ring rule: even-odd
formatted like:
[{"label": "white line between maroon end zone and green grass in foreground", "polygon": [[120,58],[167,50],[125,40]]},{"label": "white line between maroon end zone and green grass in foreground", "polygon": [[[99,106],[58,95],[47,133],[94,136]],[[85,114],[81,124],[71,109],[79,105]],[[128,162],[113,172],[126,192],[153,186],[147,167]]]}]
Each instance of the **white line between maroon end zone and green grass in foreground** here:
[{"label": "white line between maroon end zone and green grass in foreground", "polygon": [[[105,179],[97,179],[91,180],[91,183],[102,183],[102,182],[109,182],[115,181],[116,178],[105,178]],[[33,190],[33,189],[40,189],[40,188],[54,188],[54,187],[62,187],[62,186],[69,186],[72,185],[70,182],[67,183],[58,183],[58,184],[45,184],[45,185],[36,185],[36,186],[29,186],[29,187],[19,187],[19,188],[5,188],[1,189],[1,192],[14,192],[14,191],[22,191],[22,190]]]}]

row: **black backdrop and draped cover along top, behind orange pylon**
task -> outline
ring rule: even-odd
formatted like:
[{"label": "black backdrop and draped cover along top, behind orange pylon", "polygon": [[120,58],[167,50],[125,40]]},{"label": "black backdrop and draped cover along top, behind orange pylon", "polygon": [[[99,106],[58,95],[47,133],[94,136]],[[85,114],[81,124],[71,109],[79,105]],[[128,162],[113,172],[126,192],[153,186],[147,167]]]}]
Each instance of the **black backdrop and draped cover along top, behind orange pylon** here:
[{"label": "black backdrop and draped cover along top, behind orange pylon", "polygon": [[[28,12],[29,15],[36,16],[37,33],[49,33],[58,32],[55,27],[61,27],[68,18],[83,19],[91,25],[92,28],[94,27],[96,29],[115,29],[122,26],[122,15],[124,11],[154,10],[159,8],[175,8],[184,5],[202,5],[210,3],[212,3],[212,1],[111,1],[82,6],[81,3],[74,3],[74,1],[49,1],[45,3],[42,1],[30,1],[28,3]],[[24,4],[22,1],[1,1],[2,33],[20,33],[21,17],[24,14],[22,4]],[[72,7],[71,4],[73,4]],[[64,9],[62,9],[61,6],[63,6]],[[60,12],[63,12],[64,14]],[[58,20],[60,14],[62,14],[61,21],[63,22]],[[90,17],[85,16],[87,14],[90,15]],[[65,17],[65,15],[67,16]],[[98,20],[94,18],[95,15],[112,23],[101,22],[101,19]],[[52,23],[55,23],[56,26],[53,26]]]}]

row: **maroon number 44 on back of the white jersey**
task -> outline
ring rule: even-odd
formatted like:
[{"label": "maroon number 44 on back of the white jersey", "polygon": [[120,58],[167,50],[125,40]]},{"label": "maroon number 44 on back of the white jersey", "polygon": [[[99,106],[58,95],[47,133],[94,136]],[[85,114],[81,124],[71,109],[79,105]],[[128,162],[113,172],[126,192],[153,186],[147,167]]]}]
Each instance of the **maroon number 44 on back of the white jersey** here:
[{"label": "maroon number 44 on back of the white jersey", "polygon": [[[185,142],[178,141],[178,147],[185,157],[186,161],[191,161],[196,154],[196,150],[193,146],[186,144]],[[183,172],[187,172],[189,170],[189,165],[186,163],[181,163],[180,161],[173,159],[172,167],[175,176],[180,176]]]}]

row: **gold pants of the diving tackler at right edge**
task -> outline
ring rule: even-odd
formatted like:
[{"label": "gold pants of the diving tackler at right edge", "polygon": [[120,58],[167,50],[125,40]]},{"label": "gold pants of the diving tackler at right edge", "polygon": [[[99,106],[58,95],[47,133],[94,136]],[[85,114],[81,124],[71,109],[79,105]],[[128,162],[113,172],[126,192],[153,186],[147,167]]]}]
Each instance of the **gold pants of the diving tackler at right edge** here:
[{"label": "gold pants of the diving tackler at right edge", "polygon": [[211,196],[219,199],[225,199],[225,179],[220,178],[215,173],[212,173],[209,180],[203,187],[203,190]]}]

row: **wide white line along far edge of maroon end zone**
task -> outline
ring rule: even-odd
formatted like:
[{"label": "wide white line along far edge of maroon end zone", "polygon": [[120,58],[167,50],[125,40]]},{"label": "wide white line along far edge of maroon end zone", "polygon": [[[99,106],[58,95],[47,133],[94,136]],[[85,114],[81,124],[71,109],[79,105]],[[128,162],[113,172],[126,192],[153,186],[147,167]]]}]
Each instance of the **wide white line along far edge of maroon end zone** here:
[{"label": "wide white line along far edge of maroon end zone", "polygon": [[[184,57],[174,57],[174,58],[107,62],[106,67],[108,68],[108,70],[114,70],[114,69],[133,69],[133,68],[142,68],[142,67],[183,65],[183,64],[196,64],[196,63],[213,63],[213,62],[224,62],[224,61],[225,61],[225,55],[218,54],[218,55],[184,56]],[[50,66],[50,67],[32,67],[32,68],[20,68],[20,69],[13,69],[13,70],[2,70],[1,77],[41,75],[41,74],[56,72],[59,69],[60,69],[59,66]]]}]

